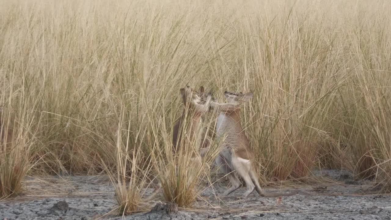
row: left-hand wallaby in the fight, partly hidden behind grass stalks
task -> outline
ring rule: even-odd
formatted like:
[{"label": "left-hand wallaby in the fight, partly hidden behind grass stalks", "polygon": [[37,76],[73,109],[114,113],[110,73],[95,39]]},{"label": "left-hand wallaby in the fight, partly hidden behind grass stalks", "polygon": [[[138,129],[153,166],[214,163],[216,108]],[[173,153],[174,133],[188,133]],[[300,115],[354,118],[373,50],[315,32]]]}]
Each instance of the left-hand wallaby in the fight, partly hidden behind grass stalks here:
[{"label": "left-hand wallaby in the fight, partly hidden behind grass stalks", "polygon": [[[180,89],[184,109],[181,117],[175,122],[172,131],[172,153],[177,154],[180,150],[185,150],[184,141],[189,141],[190,144],[197,144],[199,151],[208,149],[209,140],[206,138],[206,130],[203,128],[204,114],[210,110],[210,102],[212,97],[204,94],[204,87],[200,87],[199,93],[194,92],[192,88],[186,86]],[[202,97],[206,97],[203,100]],[[203,103],[203,104],[201,104]],[[186,137],[182,138],[186,131]],[[201,166],[200,152],[192,152],[191,162],[194,167]],[[204,152],[203,152],[204,153]],[[151,199],[161,189],[161,182],[148,197]]]}]

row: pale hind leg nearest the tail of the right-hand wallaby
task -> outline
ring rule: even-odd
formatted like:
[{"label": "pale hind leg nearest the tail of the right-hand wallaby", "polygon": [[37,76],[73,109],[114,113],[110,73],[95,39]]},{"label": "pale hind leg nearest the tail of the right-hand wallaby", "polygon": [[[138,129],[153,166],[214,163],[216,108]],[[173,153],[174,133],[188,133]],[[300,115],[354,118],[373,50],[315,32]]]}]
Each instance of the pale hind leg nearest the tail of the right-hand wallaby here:
[{"label": "pale hind leg nearest the tail of the right-hand wallaby", "polygon": [[244,182],[246,182],[247,191],[244,192],[244,194],[242,195],[242,198],[246,198],[255,189],[255,186],[250,176],[251,162],[240,157],[232,157],[232,165],[236,169],[238,175],[242,177]]}]

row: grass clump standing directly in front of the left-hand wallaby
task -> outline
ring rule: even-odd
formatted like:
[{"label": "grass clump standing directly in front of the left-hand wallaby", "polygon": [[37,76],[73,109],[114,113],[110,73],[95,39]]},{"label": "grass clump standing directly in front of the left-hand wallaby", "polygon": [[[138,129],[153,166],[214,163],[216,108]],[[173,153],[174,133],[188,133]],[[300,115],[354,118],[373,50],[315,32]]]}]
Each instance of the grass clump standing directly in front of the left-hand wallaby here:
[{"label": "grass clump standing directly in front of the left-hand wallaby", "polygon": [[[185,113],[187,114],[187,113]],[[189,113],[191,114],[191,113]],[[181,124],[180,133],[182,139],[178,142],[179,148],[173,153],[172,132],[173,126],[167,128],[164,118],[158,120],[156,129],[152,129],[156,139],[153,149],[152,165],[157,171],[157,177],[161,184],[163,197],[168,202],[174,202],[179,207],[191,207],[202,189],[202,183],[208,179],[210,164],[219,152],[219,146],[210,142],[209,149],[199,156],[201,142],[190,140],[188,124],[192,123],[191,116]],[[209,130],[210,121],[203,123]],[[158,135],[162,133],[163,136]],[[205,134],[208,135],[208,132]]]}]

